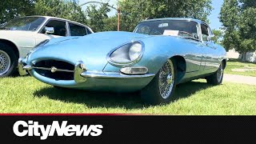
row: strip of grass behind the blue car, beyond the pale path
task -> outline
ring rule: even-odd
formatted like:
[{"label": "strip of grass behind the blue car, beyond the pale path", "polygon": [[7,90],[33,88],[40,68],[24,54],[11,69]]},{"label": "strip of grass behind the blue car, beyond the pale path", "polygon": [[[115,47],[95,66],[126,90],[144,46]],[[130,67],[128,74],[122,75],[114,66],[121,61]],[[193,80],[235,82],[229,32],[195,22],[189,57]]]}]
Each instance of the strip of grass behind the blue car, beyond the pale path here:
[{"label": "strip of grass behind the blue car, beyond the pale path", "polygon": [[256,63],[252,62],[239,62],[236,59],[230,59],[227,64],[226,64],[226,69],[225,73],[226,74],[238,74],[238,75],[246,75],[246,76],[253,76],[256,77],[256,70],[254,71],[232,71],[232,69],[242,69],[245,68],[246,66],[252,67],[256,69]]}]

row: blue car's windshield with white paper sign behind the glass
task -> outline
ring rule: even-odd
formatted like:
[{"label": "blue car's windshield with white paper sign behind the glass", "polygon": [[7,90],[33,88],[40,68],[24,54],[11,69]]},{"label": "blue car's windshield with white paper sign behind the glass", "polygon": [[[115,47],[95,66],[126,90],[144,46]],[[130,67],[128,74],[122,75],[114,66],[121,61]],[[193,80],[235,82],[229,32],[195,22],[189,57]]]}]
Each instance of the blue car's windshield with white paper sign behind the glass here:
[{"label": "blue car's windshield with white paper sign behind the glass", "polygon": [[149,35],[171,35],[198,40],[198,23],[187,20],[158,20],[142,22],[135,33]]}]

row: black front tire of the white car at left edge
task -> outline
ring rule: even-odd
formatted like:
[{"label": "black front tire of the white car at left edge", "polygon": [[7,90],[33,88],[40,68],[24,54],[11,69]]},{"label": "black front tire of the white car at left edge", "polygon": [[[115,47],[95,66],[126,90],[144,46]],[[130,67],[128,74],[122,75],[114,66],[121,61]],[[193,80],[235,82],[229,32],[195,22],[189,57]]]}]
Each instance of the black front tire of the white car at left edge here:
[{"label": "black front tire of the white car at left edge", "polygon": [[[2,65],[2,67],[3,67],[3,65],[5,65],[6,56],[10,58],[10,67],[9,67],[9,65],[7,66],[8,67],[8,68],[6,68],[7,71],[3,70],[3,69],[0,70],[0,78],[12,76],[17,71],[18,56],[14,53],[14,50],[12,49],[11,46],[7,45],[6,43],[2,43],[2,42],[0,42],[0,53],[2,55],[0,67],[1,67],[1,65]],[[5,63],[3,63],[3,62],[5,62]]]}]

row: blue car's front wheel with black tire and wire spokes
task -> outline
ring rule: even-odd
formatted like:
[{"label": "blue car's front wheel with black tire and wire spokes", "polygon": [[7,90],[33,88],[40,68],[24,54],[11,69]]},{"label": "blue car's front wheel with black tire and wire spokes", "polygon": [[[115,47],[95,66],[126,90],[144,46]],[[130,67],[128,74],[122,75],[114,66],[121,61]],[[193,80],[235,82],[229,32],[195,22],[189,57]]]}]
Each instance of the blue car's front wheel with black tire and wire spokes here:
[{"label": "blue car's front wheel with black tire and wire spokes", "polygon": [[[170,85],[170,88],[165,87],[166,89],[164,89],[163,91],[166,92],[165,95],[161,94],[160,90],[160,85],[162,84],[161,79],[165,79],[165,78],[160,78],[162,77],[162,70],[165,67],[168,67],[167,65],[172,66],[171,70],[170,69],[166,69],[166,70],[170,70],[171,71],[171,78],[170,78],[170,74],[165,75],[166,76],[166,86]],[[146,102],[147,104],[150,105],[158,105],[158,104],[165,104],[165,103],[169,103],[171,101],[171,98],[174,95],[174,91],[175,91],[175,87],[176,87],[176,65],[174,60],[170,59],[168,60],[164,66],[162,66],[162,68],[158,71],[158,74],[156,74],[153,78],[153,80],[145,87],[141,90],[141,98],[142,101]],[[171,79],[168,84],[168,79]],[[164,86],[164,85],[162,85]]]}]

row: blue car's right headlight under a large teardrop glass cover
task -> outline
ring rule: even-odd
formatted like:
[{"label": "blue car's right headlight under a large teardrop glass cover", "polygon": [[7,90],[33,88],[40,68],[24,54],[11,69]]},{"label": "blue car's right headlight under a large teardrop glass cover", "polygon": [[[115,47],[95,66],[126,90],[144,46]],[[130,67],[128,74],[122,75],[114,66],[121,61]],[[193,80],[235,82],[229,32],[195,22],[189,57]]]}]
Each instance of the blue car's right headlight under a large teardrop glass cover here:
[{"label": "blue car's right headlight under a large teardrop glass cover", "polygon": [[130,65],[142,58],[144,44],[142,42],[129,42],[111,50],[107,55],[108,62],[114,65]]}]

